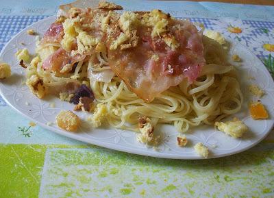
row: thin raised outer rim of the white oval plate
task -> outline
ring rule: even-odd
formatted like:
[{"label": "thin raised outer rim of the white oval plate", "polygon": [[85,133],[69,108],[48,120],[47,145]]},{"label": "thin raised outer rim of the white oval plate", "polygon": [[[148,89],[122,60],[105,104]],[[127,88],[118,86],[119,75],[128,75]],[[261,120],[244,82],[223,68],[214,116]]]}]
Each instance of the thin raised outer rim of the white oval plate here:
[{"label": "thin raised outer rim of the white oval plate", "polygon": [[[41,20],[36,21],[35,23],[32,23],[31,25],[28,25],[27,27],[23,28],[20,32],[18,32],[14,36],[12,36],[12,38],[10,38],[10,40],[4,45],[3,49],[0,52],[0,56],[2,55],[3,51],[5,51],[5,48],[7,48],[8,45],[10,45],[10,42],[12,42],[12,40],[14,38],[16,38],[16,36],[18,36],[18,34],[21,34],[26,29],[29,29],[29,27],[32,27],[32,25],[35,25],[37,23],[41,23],[42,21],[53,20],[53,18],[55,18],[55,15],[49,16],[49,17],[46,17],[46,18],[42,18]],[[237,43],[237,45],[242,45],[240,42],[236,42],[236,43]],[[250,49],[248,49],[244,45],[242,45],[242,47],[244,47],[247,51],[249,51],[249,53],[251,53],[254,57],[256,57],[256,59],[260,60]],[[266,67],[264,66],[264,64],[260,60],[260,67],[261,66],[263,66],[264,70],[267,71],[266,72],[267,75],[269,75],[270,79],[272,79],[271,80],[272,83],[274,84],[273,77],[271,77],[271,74],[269,73],[268,69],[266,69]],[[211,156],[210,155],[210,156],[208,156],[208,158],[202,158],[201,156],[179,156],[179,154],[161,153],[161,152],[157,152],[157,151],[153,152],[153,151],[149,151],[148,149],[147,149],[147,151],[138,150],[136,148],[132,148],[132,149],[128,150],[125,147],[121,147],[120,145],[117,145],[117,144],[114,145],[114,144],[111,144],[111,143],[101,142],[100,140],[95,140],[95,139],[92,140],[91,138],[84,138],[82,136],[77,136],[77,133],[67,132],[67,131],[63,131],[63,130],[55,128],[55,127],[51,127],[49,125],[46,125],[45,123],[41,123],[40,121],[36,121],[35,119],[32,119],[32,117],[28,116],[27,114],[24,114],[23,112],[18,110],[15,106],[13,106],[10,103],[10,101],[8,101],[8,99],[5,97],[5,95],[3,95],[1,87],[0,87],[0,95],[3,98],[3,100],[5,101],[5,103],[7,103],[10,107],[12,107],[12,109],[16,110],[16,112],[18,112],[22,116],[25,116],[25,118],[29,119],[30,121],[33,121],[34,123],[36,123],[40,127],[43,127],[45,129],[49,130],[50,132],[55,132],[55,134],[65,136],[65,137],[68,137],[68,138],[72,138],[72,139],[78,140],[82,143],[88,143],[88,144],[91,144],[91,145],[96,145],[96,146],[99,146],[99,147],[112,149],[114,151],[122,151],[122,152],[125,152],[125,153],[132,153],[132,154],[136,154],[136,155],[140,155],[140,156],[149,156],[149,157],[153,157],[153,158],[166,158],[166,159],[175,159],[175,160],[210,160],[210,159],[214,159],[214,158],[223,158],[223,157],[226,157],[226,156],[232,156],[234,154],[241,153],[243,151],[247,151],[251,147],[254,147],[255,145],[258,145],[258,143],[260,143],[264,138],[266,138],[267,135],[269,135],[269,133],[271,132],[271,130],[274,127],[274,122],[273,122],[271,124],[271,127],[268,130],[268,132],[266,132],[256,142],[253,142],[252,144],[248,145],[247,147],[244,147],[244,148],[236,150],[236,151],[228,151],[227,153],[218,154],[218,156]],[[273,120],[273,119],[271,119],[271,120]]]}]

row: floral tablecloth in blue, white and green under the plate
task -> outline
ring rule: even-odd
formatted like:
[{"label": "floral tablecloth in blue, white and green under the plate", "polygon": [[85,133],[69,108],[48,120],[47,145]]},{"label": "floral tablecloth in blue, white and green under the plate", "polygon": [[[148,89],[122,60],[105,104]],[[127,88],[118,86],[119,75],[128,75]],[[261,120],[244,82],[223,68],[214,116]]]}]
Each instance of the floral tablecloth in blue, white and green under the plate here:
[{"label": "floral tablecloth in blue, white and green under the plate", "polygon": [[[0,3],[0,49],[69,1]],[[190,1],[114,1],[159,8],[246,45],[274,72],[274,7]],[[273,101],[274,102],[274,101]],[[30,126],[0,97],[0,198],[274,197],[274,132],[243,153],[165,160],[103,149]]]}]

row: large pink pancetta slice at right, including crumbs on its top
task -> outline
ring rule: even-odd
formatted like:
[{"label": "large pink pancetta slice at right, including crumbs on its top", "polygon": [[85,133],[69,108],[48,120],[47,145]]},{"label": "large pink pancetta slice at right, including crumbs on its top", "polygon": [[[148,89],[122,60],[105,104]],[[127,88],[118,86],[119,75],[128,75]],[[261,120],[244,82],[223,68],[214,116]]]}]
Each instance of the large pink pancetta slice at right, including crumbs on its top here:
[{"label": "large pink pancetta slice at right, including crumbs on its top", "polygon": [[[185,77],[190,83],[195,81],[205,64],[201,34],[195,25],[171,18],[160,10],[153,12],[137,13],[138,21],[129,19],[124,23],[128,29],[121,24],[121,15],[119,21],[110,24],[106,41],[112,71],[147,102],[170,86],[177,86]],[[144,22],[146,17],[152,24]],[[119,47],[114,46],[124,34],[129,38],[124,38]],[[137,45],[130,36],[138,38]]]}]

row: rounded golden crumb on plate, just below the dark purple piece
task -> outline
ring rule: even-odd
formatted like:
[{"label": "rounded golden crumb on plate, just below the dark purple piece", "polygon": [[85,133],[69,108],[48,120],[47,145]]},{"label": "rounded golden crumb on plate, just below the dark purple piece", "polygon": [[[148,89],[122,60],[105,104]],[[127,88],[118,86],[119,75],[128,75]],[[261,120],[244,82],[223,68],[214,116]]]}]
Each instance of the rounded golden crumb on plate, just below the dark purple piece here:
[{"label": "rounded golden crumb on plate, just below the dark purple piece", "polygon": [[62,110],[57,116],[56,121],[58,127],[69,131],[69,132],[75,132],[79,125],[81,124],[81,121],[79,117],[74,114],[71,111],[65,111]]}]

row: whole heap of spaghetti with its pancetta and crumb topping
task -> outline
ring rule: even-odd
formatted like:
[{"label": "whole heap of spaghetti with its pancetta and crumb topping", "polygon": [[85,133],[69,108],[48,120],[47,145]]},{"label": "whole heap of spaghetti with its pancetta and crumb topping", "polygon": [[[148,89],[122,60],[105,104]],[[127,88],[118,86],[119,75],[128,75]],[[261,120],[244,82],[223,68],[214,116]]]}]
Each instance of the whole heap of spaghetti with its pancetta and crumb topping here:
[{"label": "whole heap of spaghetti with its pancetta and crumb topping", "polygon": [[186,132],[240,110],[236,70],[218,42],[160,10],[114,10],[121,6],[63,10],[38,44],[27,77],[38,76],[47,94],[69,99],[85,84],[106,107],[105,121],[133,131],[141,116]]}]

